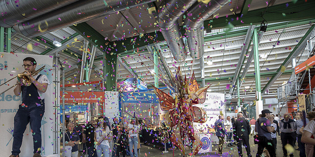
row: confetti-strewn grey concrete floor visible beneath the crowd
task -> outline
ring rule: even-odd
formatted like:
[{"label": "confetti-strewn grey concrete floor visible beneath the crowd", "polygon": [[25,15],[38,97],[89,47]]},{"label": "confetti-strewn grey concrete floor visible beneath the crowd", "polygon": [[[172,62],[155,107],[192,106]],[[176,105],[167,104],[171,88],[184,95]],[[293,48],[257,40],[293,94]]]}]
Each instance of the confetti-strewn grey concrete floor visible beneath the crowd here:
[{"label": "confetti-strewn grey concrete floor visible beneath the crowd", "polygon": [[[281,144],[281,140],[280,140],[280,136],[277,137],[277,149],[276,149],[276,154],[277,157],[283,157],[283,151],[282,151],[282,144]],[[250,144],[250,150],[251,150],[251,154],[252,156],[256,156],[257,153],[257,144],[254,144],[254,140],[253,140],[253,136],[249,135],[249,144]],[[296,142],[296,146],[295,149],[297,148],[297,142]],[[217,157],[218,155],[218,146],[217,145],[213,145],[212,150],[213,152],[211,153],[204,153],[204,154],[197,154],[196,156],[204,156],[204,157]],[[244,153],[245,151],[245,153]],[[300,151],[299,150],[295,150],[294,151],[294,156],[298,157]],[[151,146],[147,146],[147,145],[142,145],[141,150],[140,150],[140,154],[138,154],[139,157],[172,157],[173,156],[173,151],[169,151],[168,153],[164,153],[162,152],[162,149],[156,149],[154,147]],[[175,150],[174,151],[174,156],[175,157],[182,157],[182,155],[180,155],[180,151],[179,150]],[[230,157],[230,156],[238,156],[238,151],[237,151],[237,147],[226,147],[226,144],[224,145],[223,148],[223,156],[225,157]],[[243,148],[243,156],[246,157],[246,150],[245,148]],[[266,156],[265,153],[262,154],[262,156]]]}]

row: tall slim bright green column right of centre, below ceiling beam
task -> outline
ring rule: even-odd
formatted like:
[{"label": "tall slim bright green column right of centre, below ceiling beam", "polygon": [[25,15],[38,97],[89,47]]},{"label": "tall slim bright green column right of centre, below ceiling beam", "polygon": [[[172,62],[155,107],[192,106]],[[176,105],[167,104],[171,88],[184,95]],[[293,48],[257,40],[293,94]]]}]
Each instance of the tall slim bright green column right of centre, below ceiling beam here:
[{"label": "tall slim bright green column right of centre, below ceiling beam", "polygon": [[261,85],[260,85],[260,68],[259,68],[259,52],[258,52],[257,28],[254,29],[254,33],[253,33],[253,48],[254,48],[256,94],[257,94],[257,100],[261,100]]}]

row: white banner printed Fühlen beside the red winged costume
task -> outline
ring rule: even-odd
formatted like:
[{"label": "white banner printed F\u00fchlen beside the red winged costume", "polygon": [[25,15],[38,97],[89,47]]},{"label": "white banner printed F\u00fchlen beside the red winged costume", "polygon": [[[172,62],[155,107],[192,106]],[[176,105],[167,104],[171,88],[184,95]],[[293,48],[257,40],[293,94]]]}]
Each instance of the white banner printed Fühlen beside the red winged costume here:
[{"label": "white banner printed F\u00fchlen beside the red winged costume", "polygon": [[214,128],[215,121],[219,119],[219,115],[225,115],[224,102],[225,97],[223,93],[207,93],[206,100],[203,104],[194,106],[202,108],[207,113],[207,122],[194,123],[195,127],[199,130],[208,130],[208,127]]}]

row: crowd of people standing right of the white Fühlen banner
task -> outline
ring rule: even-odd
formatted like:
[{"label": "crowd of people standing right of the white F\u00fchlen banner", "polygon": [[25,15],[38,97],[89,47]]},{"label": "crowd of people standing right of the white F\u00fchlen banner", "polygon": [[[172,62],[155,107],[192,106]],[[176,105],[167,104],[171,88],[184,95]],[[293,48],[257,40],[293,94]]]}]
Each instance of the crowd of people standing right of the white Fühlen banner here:
[{"label": "crowd of people standing right of the white F\u00fchlen banner", "polygon": [[263,152],[266,152],[268,157],[276,157],[277,136],[280,136],[284,157],[293,157],[292,149],[296,141],[298,143],[296,150],[299,150],[300,157],[313,157],[315,155],[315,112],[307,114],[305,127],[303,127],[302,112],[297,112],[294,118],[289,113],[285,113],[283,117],[271,113],[265,109],[261,111],[257,120],[252,117],[250,121],[243,118],[242,112],[239,112],[237,117],[227,116],[226,121],[224,121],[224,116],[219,115],[219,119],[215,122],[216,136],[219,138],[219,155],[222,156],[226,136],[227,147],[233,147],[235,143],[240,157],[243,157],[243,148],[247,156],[251,157],[249,135],[254,135],[254,143],[258,145],[256,157],[260,157]]}]

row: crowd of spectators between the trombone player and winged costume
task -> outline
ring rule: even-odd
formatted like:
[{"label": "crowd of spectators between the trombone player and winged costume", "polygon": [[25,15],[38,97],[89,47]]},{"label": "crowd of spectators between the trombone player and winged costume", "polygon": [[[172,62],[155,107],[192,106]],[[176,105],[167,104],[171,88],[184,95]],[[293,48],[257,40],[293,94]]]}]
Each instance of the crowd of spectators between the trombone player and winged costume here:
[{"label": "crowd of spectators between the trombone player and winged costume", "polygon": [[[124,123],[128,123],[127,128]],[[138,157],[140,130],[141,126],[136,117],[130,122],[117,122],[115,118],[114,123],[110,125],[106,117],[94,116],[86,126],[68,123],[67,132],[65,137],[61,137],[60,145],[63,145],[62,138],[65,138],[65,157],[78,157],[79,151],[88,157],[126,157],[127,152],[131,157]],[[81,149],[78,148],[80,143]]]}]

